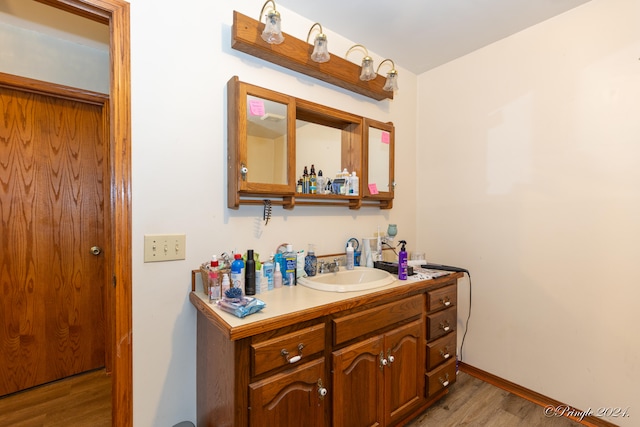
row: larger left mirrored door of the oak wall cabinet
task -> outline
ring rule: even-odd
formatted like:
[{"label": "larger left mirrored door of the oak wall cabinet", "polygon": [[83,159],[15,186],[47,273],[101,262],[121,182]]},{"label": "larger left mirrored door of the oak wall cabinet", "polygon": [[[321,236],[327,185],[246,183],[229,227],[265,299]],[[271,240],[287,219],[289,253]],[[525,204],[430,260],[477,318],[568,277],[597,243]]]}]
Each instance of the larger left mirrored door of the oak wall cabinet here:
[{"label": "larger left mirrored door of the oak wall cabinet", "polygon": [[228,204],[240,194],[295,192],[295,100],[232,78],[228,99]]}]

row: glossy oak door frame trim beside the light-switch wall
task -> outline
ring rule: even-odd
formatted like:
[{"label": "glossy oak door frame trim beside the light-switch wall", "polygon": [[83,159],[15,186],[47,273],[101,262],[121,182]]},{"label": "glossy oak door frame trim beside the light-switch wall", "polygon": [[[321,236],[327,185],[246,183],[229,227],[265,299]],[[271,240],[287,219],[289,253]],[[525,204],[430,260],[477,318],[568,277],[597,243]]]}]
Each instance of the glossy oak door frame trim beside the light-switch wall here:
[{"label": "glossy oak door frame trim beside the light-switch wall", "polygon": [[[111,168],[109,228],[110,260],[107,277],[113,278],[114,340],[111,424],[133,426],[133,329],[131,257],[131,46],[129,3],[123,0],[36,0],[84,18],[108,24],[109,58],[109,165]],[[108,347],[109,348],[109,347]]]}]

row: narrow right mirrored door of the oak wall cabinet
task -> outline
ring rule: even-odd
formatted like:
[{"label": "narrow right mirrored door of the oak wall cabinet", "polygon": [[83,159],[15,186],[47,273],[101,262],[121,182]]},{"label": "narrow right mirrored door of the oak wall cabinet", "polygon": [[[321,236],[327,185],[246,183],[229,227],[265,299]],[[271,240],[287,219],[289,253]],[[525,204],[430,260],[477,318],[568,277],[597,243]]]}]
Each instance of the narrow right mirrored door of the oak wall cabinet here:
[{"label": "narrow right mirrored door of the oak wall cabinet", "polygon": [[395,187],[393,123],[365,119],[364,147],[364,197],[386,200],[381,207],[390,209]]}]

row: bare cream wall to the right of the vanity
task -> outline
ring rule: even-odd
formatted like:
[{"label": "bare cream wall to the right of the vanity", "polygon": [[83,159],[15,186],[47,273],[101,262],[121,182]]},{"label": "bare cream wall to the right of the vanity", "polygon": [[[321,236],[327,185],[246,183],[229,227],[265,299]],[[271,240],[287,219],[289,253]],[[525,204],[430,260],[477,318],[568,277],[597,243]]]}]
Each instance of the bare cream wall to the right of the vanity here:
[{"label": "bare cream wall to the right of the vanity", "polygon": [[418,78],[418,243],[471,271],[463,360],[580,409],[630,406],[609,419],[624,426],[640,416],[638,16],[593,0]]}]

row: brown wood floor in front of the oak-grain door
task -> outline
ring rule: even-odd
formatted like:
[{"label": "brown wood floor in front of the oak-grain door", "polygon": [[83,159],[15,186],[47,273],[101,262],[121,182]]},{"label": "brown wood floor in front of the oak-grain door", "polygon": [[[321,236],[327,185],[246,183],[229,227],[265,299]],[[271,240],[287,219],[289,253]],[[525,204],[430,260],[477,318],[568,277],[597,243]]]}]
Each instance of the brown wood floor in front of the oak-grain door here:
[{"label": "brown wood floor in front of the oak-grain door", "polygon": [[0,427],[63,426],[111,426],[111,376],[104,369],[0,398]]}]

